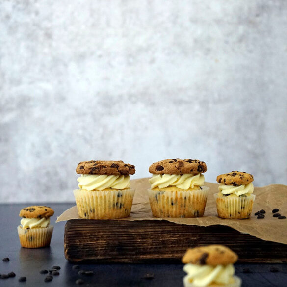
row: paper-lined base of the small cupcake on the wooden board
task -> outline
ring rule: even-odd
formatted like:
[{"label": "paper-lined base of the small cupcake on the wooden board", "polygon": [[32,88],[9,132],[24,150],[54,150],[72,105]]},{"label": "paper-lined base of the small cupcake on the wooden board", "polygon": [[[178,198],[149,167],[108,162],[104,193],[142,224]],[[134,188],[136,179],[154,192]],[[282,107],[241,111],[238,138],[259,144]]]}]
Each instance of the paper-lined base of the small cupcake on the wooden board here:
[{"label": "paper-lined base of the small cupcake on the wooden board", "polygon": [[252,207],[255,200],[255,195],[249,196],[224,196],[219,197],[218,193],[214,194],[216,199],[216,208],[218,217],[232,219],[246,219],[252,213]]}]

